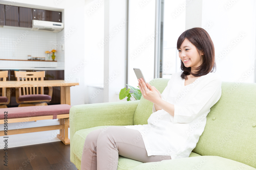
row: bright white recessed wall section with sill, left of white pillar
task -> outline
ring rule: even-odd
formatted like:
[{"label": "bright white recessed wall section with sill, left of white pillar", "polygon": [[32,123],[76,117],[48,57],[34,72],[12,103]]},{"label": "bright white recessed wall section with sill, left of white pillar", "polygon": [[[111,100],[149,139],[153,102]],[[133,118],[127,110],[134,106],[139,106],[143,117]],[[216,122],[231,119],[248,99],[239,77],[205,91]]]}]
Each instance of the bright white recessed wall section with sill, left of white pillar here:
[{"label": "bright white recessed wall section with sill, left of white pillar", "polygon": [[[104,1],[85,1],[85,103],[103,102]],[[106,38],[106,41],[108,39]],[[99,88],[97,88],[97,86]]]}]

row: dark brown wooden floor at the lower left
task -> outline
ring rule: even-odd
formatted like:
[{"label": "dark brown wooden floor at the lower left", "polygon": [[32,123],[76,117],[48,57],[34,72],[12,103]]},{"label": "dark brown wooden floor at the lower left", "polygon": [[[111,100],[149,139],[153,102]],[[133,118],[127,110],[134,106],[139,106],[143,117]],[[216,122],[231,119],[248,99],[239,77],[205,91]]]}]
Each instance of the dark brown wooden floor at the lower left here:
[{"label": "dark brown wooden floor at the lower left", "polygon": [[1,170],[77,170],[70,162],[70,145],[61,141],[8,148],[8,166],[3,162],[5,152],[0,150]]}]

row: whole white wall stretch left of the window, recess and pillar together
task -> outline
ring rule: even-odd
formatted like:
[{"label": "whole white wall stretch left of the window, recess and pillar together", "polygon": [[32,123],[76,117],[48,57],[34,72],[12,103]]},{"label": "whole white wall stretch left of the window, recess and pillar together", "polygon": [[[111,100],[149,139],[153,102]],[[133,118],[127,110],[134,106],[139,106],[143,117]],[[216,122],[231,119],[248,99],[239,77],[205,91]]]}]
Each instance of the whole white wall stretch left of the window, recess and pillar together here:
[{"label": "whole white wall stretch left of the window, recess and pillar together", "polygon": [[[120,101],[125,86],[126,2],[89,0],[85,4],[86,103]],[[95,88],[95,87],[99,88]]]}]

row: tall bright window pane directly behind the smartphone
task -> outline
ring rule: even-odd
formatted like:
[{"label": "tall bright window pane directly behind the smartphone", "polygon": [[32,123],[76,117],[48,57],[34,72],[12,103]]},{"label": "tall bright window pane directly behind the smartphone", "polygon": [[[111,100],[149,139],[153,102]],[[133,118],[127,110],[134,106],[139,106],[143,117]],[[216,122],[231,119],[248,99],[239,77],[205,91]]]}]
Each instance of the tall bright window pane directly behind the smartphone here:
[{"label": "tall bright window pane directly behind the smartphone", "polygon": [[133,68],[140,68],[147,82],[154,79],[155,1],[129,0],[127,84],[137,87]]}]

